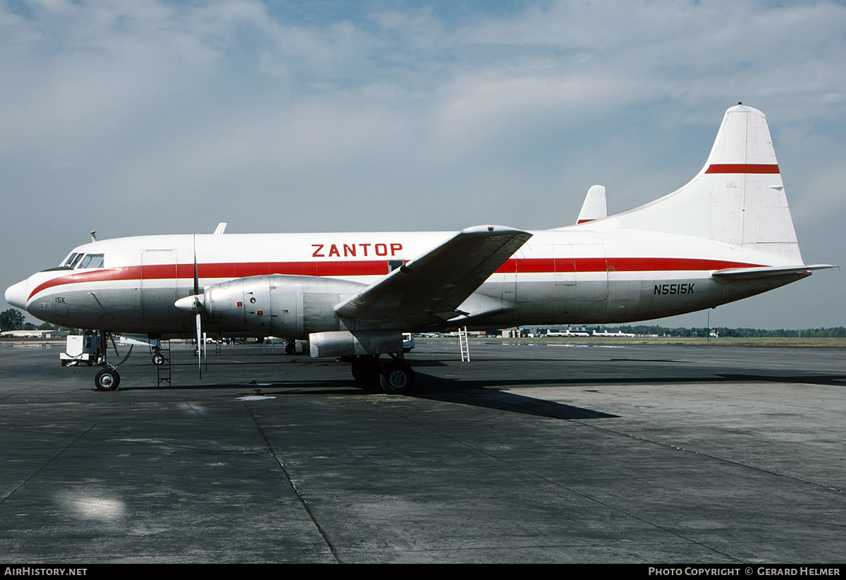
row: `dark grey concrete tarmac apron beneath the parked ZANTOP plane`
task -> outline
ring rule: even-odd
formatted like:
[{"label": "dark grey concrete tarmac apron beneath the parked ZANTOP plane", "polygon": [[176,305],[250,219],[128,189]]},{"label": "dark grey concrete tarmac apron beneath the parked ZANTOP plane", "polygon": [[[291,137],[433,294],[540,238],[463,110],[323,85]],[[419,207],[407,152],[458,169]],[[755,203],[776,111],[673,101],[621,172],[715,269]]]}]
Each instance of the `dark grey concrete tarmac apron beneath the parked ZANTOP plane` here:
[{"label": "dark grey concrete tarmac apron beneath the parked ZANTOP plane", "polygon": [[843,349],[419,340],[398,396],[261,345],[96,392],[62,348],[0,345],[3,562],[846,561]]}]

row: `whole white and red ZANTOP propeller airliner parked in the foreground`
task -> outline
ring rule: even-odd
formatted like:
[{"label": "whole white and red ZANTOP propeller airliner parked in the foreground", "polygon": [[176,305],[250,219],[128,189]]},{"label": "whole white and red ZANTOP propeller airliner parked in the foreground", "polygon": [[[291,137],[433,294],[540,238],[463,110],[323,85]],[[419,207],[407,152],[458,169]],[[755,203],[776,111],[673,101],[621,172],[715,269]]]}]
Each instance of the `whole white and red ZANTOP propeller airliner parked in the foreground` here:
[{"label": "whole white and red ZANTOP propeller airliner parked in the foreground", "polygon": [[[831,268],[799,254],[754,108],[728,109],[705,167],[678,191],[606,217],[604,190],[592,190],[601,201],[579,224],[541,231],[95,240],[5,296],[49,323],[103,333],[307,340],[310,356],[349,357],[361,382],[404,392],[415,375],[403,331],[662,318]],[[118,381],[104,363],[97,388]]]}]

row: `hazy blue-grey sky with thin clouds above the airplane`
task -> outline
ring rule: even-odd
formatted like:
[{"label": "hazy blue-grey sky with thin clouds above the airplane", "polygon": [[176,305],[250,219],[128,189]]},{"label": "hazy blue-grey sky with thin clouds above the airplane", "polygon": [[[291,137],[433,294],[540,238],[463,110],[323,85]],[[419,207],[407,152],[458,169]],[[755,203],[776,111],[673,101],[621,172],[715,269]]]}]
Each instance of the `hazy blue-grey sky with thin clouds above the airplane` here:
[{"label": "hazy blue-grey sky with thin clouds above the airplane", "polygon": [[[830,1],[6,0],[0,285],[91,229],[542,229],[596,183],[623,211],[689,180],[738,101],[805,262],[846,264],[843,30]],[[846,324],[841,277],[711,324]]]}]

